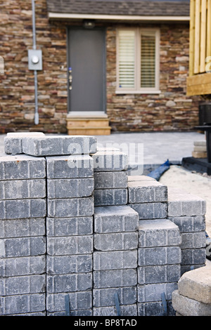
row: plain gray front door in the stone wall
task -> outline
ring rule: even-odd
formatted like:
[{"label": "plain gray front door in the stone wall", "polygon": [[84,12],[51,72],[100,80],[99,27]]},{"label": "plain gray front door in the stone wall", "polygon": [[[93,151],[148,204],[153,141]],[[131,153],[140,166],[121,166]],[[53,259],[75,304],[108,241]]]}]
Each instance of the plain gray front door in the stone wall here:
[{"label": "plain gray front door in the stone wall", "polygon": [[[69,29],[69,112],[106,111],[104,29]],[[69,79],[71,80],[71,79]]]}]

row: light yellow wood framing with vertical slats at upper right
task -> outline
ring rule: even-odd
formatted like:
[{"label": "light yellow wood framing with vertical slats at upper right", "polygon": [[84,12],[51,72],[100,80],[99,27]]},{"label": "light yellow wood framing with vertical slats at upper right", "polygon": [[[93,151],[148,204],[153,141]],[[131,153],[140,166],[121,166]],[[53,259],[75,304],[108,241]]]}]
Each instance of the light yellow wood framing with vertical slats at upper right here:
[{"label": "light yellow wood framing with vertical slats at upper right", "polygon": [[187,95],[211,94],[211,0],[191,0]]}]

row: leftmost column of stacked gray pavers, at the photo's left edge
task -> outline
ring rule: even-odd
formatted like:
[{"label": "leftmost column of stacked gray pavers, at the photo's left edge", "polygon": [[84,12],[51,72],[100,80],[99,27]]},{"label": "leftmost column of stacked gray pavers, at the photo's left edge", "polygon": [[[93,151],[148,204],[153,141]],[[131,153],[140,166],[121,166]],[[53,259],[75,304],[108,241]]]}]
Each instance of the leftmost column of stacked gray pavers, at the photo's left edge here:
[{"label": "leftmost column of stacked gray pavers, at the photo's left edge", "polygon": [[0,314],[45,315],[46,161],[21,154],[21,138],[7,142],[10,155],[0,161]]}]

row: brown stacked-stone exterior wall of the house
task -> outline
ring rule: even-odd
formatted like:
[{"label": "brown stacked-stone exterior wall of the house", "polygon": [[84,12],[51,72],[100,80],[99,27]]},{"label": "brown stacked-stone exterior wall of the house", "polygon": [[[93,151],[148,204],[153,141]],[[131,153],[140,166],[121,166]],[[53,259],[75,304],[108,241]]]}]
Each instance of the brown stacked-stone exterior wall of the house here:
[{"label": "brown stacked-stone exterior wall of the house", "polygon": [[[36,1],[39,125],[34,125],[34,72],[28,70],[32,49],[31,1],[0,1],[0,133],[44,131],[66,133],[68,64],[66,27],[49,22],[46,0]],[[141,25],[139,25],[141,26]],[[115,93],[116,27],[107,27],[107,114],[113,131],[186,131],[198,124],[198,100],[186,96],[188,25],[160,25],[160,91],[158,95]],[[146,27],[146,25],[144,25]]]}]

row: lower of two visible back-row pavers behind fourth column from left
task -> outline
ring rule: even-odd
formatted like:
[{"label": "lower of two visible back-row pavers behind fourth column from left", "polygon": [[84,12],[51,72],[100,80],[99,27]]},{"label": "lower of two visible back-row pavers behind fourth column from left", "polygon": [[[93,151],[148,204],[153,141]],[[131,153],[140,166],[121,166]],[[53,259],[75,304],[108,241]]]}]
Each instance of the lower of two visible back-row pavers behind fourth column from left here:
[{"label": "lower of two visible back-row pavers behind fourth column from left", "polygon": [[140,220],[167,218],[167,203],[137,203],[129,206],[139,213]]}]

